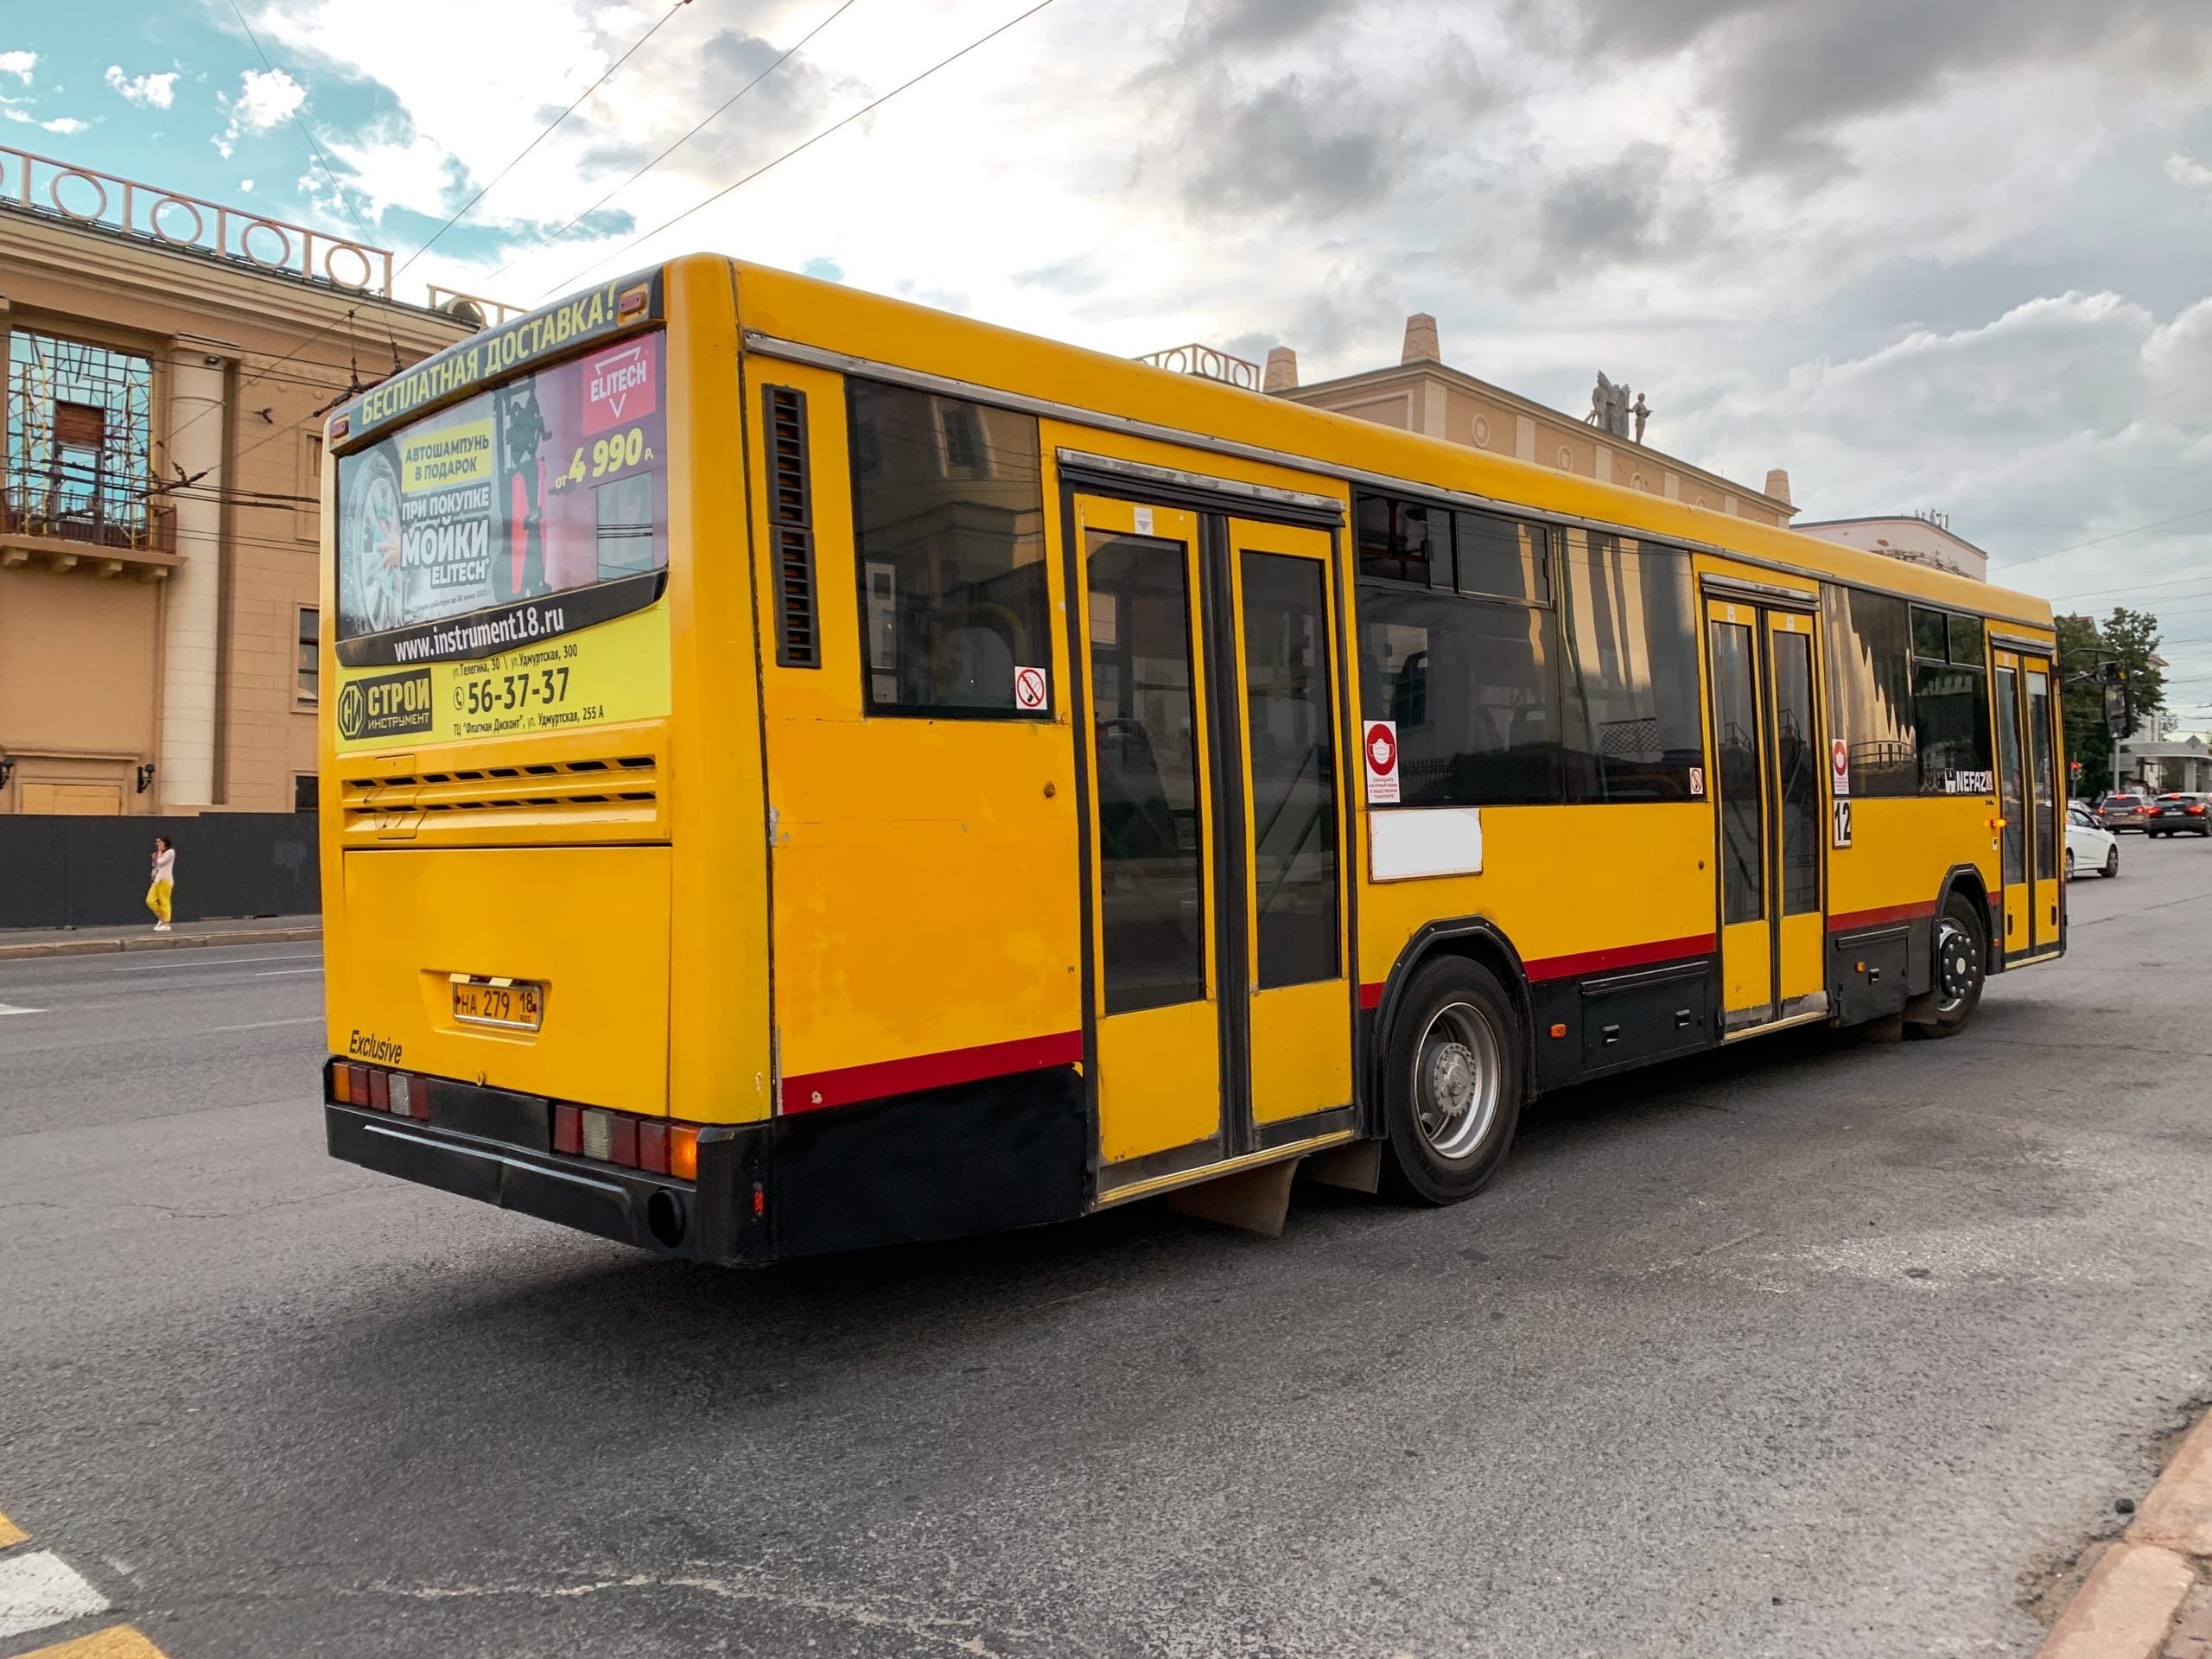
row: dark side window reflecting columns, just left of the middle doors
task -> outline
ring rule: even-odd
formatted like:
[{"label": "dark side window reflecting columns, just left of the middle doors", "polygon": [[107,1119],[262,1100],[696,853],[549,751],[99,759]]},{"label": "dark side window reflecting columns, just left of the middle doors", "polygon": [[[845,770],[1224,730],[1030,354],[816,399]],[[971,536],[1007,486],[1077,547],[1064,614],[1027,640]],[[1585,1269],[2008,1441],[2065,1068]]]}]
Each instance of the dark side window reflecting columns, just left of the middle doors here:
[{"label": "dark side window reflecting columns, just left of the middle doors", "polygon": [[1688,801],[1705,763],[1690,555],[1566,531],[1568,801]]}]

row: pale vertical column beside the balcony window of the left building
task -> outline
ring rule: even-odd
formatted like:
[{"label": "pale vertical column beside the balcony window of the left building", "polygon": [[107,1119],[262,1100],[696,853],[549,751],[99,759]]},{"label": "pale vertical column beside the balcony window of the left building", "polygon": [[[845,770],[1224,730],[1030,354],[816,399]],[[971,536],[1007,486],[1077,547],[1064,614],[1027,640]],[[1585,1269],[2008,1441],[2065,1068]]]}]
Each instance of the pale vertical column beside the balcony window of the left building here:
[{"label": "pale vertical column beside the balcony window of the left building", "polygon": [[223,622],[223,409],[228,347],[179,336],[168,354],[168,440],[159,478],[190,487],[170,495],[177,553],[161,597],[161,805],[215,805],[215,661]]}]

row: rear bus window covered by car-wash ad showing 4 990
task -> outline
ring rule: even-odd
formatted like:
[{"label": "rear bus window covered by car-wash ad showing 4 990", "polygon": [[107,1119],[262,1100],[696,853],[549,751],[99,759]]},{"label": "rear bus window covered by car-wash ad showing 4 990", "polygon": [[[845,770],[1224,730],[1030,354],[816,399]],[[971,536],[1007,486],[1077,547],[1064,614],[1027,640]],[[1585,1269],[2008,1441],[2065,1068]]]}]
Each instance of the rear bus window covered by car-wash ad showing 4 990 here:
[{"label": "rear bus window covered by car-wash ad showing 4 990", "polygon": [[666,336],[637,334],[343,456],[338,639],[429,624],[471,637],[451,622],[668,568],[664,378]]}]

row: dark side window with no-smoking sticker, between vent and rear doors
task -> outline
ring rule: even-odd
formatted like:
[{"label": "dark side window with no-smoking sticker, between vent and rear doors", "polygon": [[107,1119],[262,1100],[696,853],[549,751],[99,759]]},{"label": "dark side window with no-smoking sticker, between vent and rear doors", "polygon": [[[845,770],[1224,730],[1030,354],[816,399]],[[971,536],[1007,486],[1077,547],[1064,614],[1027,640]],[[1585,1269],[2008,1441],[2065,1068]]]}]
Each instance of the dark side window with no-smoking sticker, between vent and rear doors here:
[{"label": "dark side window with no-smoking sticker, between vent and rear doors", "polygon": [[863,706],[1013,714],[1051,661],[1035,418],[874,380],[847,405]]}]

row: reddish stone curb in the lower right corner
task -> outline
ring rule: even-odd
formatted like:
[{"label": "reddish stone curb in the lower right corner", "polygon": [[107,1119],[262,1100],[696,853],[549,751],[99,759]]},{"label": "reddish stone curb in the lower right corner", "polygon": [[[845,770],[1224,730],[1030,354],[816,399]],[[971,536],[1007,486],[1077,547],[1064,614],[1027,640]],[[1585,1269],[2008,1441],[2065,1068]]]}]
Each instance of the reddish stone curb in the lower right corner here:
[{"label": "reddish stone curb in the lower right corner", "polygon": [[2135,1524],[2066,1604],[2035,1659],[2159,1659],[2212,1568],[2212,1413],[2150,1489]]}]

